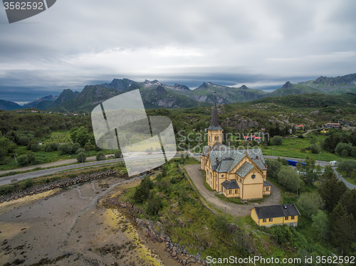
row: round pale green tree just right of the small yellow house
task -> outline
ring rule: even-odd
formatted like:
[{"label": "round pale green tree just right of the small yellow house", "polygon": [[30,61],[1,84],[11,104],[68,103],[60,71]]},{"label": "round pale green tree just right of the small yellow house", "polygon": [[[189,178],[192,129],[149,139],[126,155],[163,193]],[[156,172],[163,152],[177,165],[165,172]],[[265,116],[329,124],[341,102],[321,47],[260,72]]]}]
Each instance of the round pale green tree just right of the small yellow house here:
[{"label": "round pale green tree just right of the small yellow house", "polygon": [[323,198],[318,192],[303,193],[297,202],[298,210],[302,216],[312,218],[324,206]]}]

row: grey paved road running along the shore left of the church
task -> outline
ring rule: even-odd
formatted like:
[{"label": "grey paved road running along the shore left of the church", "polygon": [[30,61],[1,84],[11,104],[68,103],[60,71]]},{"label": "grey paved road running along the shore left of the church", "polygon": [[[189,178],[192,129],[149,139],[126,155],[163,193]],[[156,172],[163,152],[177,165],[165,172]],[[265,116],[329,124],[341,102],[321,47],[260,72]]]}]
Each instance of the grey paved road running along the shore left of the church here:
[{"label": "grey paved road running along the shore left of the church", "polygon": [[[150,155],[135,156],[134,158],[137,157],[137,160],[143,161],[143,160],[156,159],[161,156],[162,156],[161,154],[150,154]],[[180,157],[180,154],[176,154],[175,157]],[[134,158],[132,158],[132,156],[130,156],[130,159],[134,159]],[[8,185],[10,183],[11,179],[17,179],[18,181],[21,181],[23,179],[34,179],[34,178],[40,177],[40,176],[48,176],[51,174],[56,174],[59,171],[66,171],[66,170],[68,171],[68,170],[74,170],[74,169],[84,168],[84,167],[99,166],[101,164],[113,164],[113,163],[117,163],[120,161],[124,161],[124,159],[119,158],[119,159],[110,159],[110,160],[104,160],[104,161],[90,161],[88,163],[83,163],[83,164],[71,164],[71,165],[66,165],[66,166],[50,168],[50,169],[32,171],[32,172],[23,173],[23,174],[16,174],[14,176],[5,176],[5,177],[0,178],[0,186]]]}]

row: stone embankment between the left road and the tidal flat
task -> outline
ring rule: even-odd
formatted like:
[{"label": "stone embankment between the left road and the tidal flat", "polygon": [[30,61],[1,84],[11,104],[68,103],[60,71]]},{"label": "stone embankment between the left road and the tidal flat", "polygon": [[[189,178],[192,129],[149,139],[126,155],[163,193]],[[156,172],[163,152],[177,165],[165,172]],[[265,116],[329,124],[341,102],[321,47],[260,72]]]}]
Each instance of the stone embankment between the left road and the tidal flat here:
[{"label": "stone embankment between the left road and the tidal flat", "polygon": [[103,179],[105,177],[113,176],[118,173],[119,173],[119,171],[110,169],[108,171],[103,171],[100,173],[83,174],[80,176],[76,176],[72,179],[61,179],[61,180],[53,181],[51,183],[46,183],[43,185],[31,186],[30,188],[26,188],[21,191],[14,191],[14,192],[11,192],[4,196],[0,196],[0,203],[3,203],[5,201],[14,201],[18,198],[23,198],[25,196],[43,193],[45,191],[51,191],[56,188],[64,188],[64,187],[68,187],[68,186],[74,186],[79,183],[84,183],[84,182],[92,181],[95,179]]}]

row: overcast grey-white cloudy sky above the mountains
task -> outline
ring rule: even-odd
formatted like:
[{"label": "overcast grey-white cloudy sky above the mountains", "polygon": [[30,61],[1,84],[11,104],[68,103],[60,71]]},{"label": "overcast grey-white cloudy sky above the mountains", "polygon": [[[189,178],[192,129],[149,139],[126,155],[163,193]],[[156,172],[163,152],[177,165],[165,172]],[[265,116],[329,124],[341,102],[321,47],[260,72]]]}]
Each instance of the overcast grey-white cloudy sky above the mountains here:
[{"label": "overcast grey-white cloudy sky above the mountains", "polygon": [[356,1],[58,0],[0,9],[0,99],[28,102],[113,78],[273,90],[356,73]]}]

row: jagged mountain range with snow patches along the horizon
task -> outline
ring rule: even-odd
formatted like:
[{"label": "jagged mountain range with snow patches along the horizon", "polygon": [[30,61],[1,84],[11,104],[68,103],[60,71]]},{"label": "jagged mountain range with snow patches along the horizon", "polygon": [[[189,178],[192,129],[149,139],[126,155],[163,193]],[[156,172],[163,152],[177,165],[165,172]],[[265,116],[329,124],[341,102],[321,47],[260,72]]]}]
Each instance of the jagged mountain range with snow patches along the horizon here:
[{"label": "jagged mountain range with snow patches along the horizon", "polygon": [[14,110],[20,108],[36,108],[38,110],[51,110],[55,112],[91,111],[100,102],[120,95],[130,90],[139,89],[145,108],[187,108],[204,107],[216,102],[232,103],[258,100],[263,97],[276,97],[285,95],[301,95],[318,92],[325,95],[339,95],[345,92],[356,92],[356,74],[344,75],[336,78],[319,77],[298,84],[287,81],[282,87],[273,92],[256,90],[242,85],[241,87],[228,87],[214,83],[203,83],[194,90],[186,85],[173,86],[159,83],[158,80],[145,80],[137,83],[127,78],[114,79],[111,83],[100,85],[86,85],[81,92],[70,89],[63,90],[61,95],[48,95],[28,102],[21,107],[15,102],[0,100],[1,110]]}]

